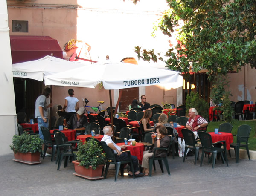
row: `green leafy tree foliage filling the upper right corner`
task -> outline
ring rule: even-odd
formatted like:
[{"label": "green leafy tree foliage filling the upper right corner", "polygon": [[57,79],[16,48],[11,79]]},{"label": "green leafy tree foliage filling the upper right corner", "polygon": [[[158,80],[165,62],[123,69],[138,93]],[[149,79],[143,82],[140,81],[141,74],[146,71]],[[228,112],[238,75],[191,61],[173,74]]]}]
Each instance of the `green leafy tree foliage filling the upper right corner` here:
[{"label": "green leafy tree foliage filling the upper right corner", "polygon": [[[136,0],[135,0],[136,1]],[[170,6],[157,28],[171,37],[180,21],[180,44],[165,56],[169,69],[188,72],[208,69],[212,75],[239,70],[250,64],[256,68],[256,1],[255,0],[166,0]],[[175,50],[178,49],[179,50]],[[175,52],[177,51],[177,52]],[[163,61],[159,53],[135,47],[145,61]]]}]

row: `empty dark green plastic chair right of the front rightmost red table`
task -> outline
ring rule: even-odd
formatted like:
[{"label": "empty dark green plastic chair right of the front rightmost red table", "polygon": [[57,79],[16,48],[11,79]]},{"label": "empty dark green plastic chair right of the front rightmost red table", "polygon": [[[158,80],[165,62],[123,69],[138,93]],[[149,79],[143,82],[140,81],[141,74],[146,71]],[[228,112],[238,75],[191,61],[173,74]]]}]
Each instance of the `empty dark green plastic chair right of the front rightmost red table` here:
[{"label": "empty dark green plastic chair right of the front rightmost red table", "polygon": [[[248,158],[250,160],[250,153],[249,153],[249,148],[248,148],[248,139],[250,137],[250,131],[251,127],[247,124],[240,125],[237,129],[237,135],[236,136],[236,143],[230,144],[230,148],[234,148],[235,150],[235,156],[236,156],[236,163],[238,163],[239,160],[239,150],[240,147],[245,147],[246,152],[248,155]],[[241,143],[243,142],[243,143]]]}]

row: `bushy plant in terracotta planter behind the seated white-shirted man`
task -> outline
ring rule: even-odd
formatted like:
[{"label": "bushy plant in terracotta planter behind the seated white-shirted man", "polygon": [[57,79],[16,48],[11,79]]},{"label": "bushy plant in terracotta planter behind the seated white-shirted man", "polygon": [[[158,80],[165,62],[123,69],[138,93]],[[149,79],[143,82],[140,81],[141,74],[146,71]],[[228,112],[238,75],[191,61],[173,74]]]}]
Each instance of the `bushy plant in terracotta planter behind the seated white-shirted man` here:
[{"label": "bushy plant in terracotta planter behind the seated white-shirted man", "polygon": [[102,179],[102,169],[105,162],[105,154],[94,139],[83,143],[79,142],[76,153],[76,161],[72,161],[75,167],[75,175],[86,179]]}]

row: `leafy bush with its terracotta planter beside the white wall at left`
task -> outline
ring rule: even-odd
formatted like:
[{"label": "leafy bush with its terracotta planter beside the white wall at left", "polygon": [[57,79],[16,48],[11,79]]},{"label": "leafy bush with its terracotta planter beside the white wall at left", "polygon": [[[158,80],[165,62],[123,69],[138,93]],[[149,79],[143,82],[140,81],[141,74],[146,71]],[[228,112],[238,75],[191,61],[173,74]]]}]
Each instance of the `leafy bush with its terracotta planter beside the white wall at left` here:
[{"label": "leafy bush with its terracotta planter beside the white wall at left", "polygon": [[29,135],[23,133],[14,135],[12,138],[11,150],[14,153],[14,161],[26,164],[38,164],[40,161],[40,153],[42,152],[43,140],[39,135]]}]

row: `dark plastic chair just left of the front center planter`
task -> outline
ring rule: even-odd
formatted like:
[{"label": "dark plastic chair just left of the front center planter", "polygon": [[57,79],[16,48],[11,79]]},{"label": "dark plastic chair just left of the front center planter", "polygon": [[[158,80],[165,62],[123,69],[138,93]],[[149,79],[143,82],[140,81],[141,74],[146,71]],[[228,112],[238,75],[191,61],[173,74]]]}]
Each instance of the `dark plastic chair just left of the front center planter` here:
[{"label": "dark plastic chair just left of the front center planter", "polygon": [[[54,133],[54,138],[57,144],[57,158],[56,162],[58,162],[57,170],[60,170],[62,159],[65,157],[64,167],[67,167],[68,160],[75,160],[76,157],[73,153],[73,148],[71,143],[66,142],[63,135],[59,132]],[[78,141],[77,141],[78,142]]]}]

